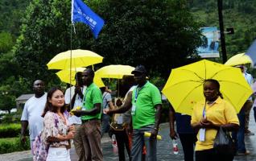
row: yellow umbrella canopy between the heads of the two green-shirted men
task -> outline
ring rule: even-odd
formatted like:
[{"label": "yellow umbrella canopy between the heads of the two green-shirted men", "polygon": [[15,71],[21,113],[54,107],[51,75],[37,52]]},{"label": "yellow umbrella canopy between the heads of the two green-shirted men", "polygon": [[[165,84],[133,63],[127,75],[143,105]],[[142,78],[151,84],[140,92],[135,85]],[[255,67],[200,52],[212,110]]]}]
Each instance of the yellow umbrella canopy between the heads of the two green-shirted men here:
[{"label": "yellow umbrella canopy between the heads of the two green-shirted men", "polygon": [[134,67],[129,65],[108,65],[98,69],[95,75],[101,78],[122,79],[122,76],[133,76],[133,74],[131,74],[133,70]]}]

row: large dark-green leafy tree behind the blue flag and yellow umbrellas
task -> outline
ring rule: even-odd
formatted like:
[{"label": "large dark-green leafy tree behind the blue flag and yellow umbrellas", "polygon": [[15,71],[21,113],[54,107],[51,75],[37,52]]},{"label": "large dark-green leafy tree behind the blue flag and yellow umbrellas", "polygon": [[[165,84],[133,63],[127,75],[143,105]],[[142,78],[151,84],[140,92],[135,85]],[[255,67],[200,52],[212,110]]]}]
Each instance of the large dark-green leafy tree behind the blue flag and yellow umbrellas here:
[{"label": "large dark-green leafy tree behind the blue flag and yellow umbrellas", "polygon": [[[182,0],[86,1],[105,19],[98,39],[89,27],[76,24],[73,48],[85,48],[105,57],[105,64],[145,64],[167,76],[173,67],[186,64],[200,45],[199,23]],[[52,81],[46,64],[70,49],[70,1],[34,0],[27,8],[21,36],[14,47],[21,76]],[[57,83],[57,82],[56,82]]]}]

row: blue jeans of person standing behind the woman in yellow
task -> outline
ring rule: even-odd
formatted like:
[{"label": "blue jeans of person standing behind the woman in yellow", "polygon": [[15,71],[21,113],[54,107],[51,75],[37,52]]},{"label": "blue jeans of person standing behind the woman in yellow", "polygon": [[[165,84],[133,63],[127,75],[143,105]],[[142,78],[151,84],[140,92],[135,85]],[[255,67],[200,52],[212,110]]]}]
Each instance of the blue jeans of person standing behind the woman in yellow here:
[{"label": "blue jeans of person standing behind the woman in yellow", "polygon": [[246,144],[245,144],[245,110],[242,108],[239,114],[237,114],[239,119],[239,130],[238,132],[232,133],[232,138],[235,140],[237,145],[237,152],[238,153],[245,153],[246,152]]}]

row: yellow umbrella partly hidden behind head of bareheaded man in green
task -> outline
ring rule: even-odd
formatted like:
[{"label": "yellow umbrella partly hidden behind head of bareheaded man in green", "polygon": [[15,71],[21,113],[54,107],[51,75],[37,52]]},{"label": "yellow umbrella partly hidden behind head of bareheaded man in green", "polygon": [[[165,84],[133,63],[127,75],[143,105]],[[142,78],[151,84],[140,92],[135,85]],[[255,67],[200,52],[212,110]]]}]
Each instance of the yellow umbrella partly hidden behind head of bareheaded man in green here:
[{"label": "yellow umbrella partly hidden behind head of bareheaded man in green", "polygon": [[[70,84],[70,70],[71,70],[71,85],[76,85],[76,72],[83,72],[85,68],[71,68],[71,69],[64,69],[59,72],[56,72],[56,75],[59,76],[60,81]],[[98,87],[104,87],[104,83],[101,81],[101,78],[98,76],[94,76],[94,83]]]}]

